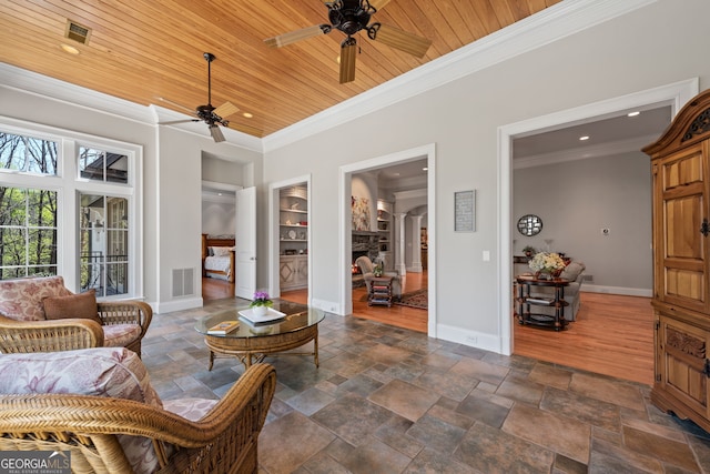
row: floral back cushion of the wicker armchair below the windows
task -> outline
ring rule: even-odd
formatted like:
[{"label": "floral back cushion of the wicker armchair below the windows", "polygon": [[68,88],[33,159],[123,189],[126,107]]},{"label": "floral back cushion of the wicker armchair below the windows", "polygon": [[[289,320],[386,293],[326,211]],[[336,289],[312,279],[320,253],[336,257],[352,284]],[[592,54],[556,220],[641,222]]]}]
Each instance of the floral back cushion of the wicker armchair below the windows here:
[{"label": "floral back cushion of the wicker armchair below the windows", "polygon": [[68,296],[61,276],[0,281],[0,314],[16,321],[45,320],[42,300],[50,296]]}]

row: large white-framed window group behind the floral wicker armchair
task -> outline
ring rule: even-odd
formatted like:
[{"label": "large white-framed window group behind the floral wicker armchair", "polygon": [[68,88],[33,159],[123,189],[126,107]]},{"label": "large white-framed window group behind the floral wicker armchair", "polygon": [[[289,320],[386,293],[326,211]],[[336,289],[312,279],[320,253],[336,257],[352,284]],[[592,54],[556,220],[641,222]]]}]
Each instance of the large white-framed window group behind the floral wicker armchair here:
[{"label": "large white-framed window group behind the floral wicker armchair", "polygon": [[61,274],[97,296],[143,294],[142,150],[39,124],[0,123],[0,279]]}]

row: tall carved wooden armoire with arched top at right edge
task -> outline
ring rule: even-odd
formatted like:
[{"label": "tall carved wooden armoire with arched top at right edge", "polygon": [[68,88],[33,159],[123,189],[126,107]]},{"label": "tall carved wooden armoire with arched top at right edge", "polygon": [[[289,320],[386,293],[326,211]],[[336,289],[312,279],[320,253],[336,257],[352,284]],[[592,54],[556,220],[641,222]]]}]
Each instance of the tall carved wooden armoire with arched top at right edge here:
[{"label": "tall carved wooden armoire with arched top at right edge", "polygon": [[710,431],[710,90],[643,152],[653,179],[651,401]]}]

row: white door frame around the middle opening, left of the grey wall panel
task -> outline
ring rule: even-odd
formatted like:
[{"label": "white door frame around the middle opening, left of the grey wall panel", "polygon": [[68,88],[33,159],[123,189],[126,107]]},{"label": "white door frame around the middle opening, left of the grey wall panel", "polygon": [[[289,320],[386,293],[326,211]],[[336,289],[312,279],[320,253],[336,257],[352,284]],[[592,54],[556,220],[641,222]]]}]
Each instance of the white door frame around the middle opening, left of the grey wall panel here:
[{"label": "white door frame around the middle opening, left of the grey wall panel", "polygon": [[376,157],[369,160],[358,161],[356,163],[346,164],[338,170],[338,185],[339,185],[339,206],[338,213],[338,241],[341,255],[338,264],[338,274],[341,275],[341,301],[339,307],[343,310],[343,314],[353,313],[353,274],[352,266],[352,248],[353,248],[353,232],[352,232],[352,218],[351,218],[351,199],[352,199],[352,179],[353,174],[365,171],[376,170],[379,168],[386,168],[393,164],[404,163],[407,161],[427,160],[427,206],[428,206],[428,238],[429,238],[429,253],[428,253],[428,288],[434,291],[428,292],[428,327],[427,334],[429,337],[436,337],[436,144],[429,143],[422,147],[413,148],[409,150],[403,150],[395,153]]}]

